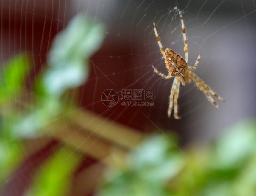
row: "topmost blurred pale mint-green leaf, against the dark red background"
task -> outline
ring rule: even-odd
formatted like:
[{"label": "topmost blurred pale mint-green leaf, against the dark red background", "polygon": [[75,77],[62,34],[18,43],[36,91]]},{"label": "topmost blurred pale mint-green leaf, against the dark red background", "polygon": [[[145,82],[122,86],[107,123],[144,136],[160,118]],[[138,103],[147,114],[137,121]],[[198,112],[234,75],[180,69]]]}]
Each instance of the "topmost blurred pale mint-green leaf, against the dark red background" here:
[{"label": "topmost blurred pale mint-green leaf, against the dark red background", "polygon": [[102,44],[104,29],[104,25],[95,18],[79,13],[53,40],[49,66],[62,67],[60,62],[66,59],[89,58]]}]

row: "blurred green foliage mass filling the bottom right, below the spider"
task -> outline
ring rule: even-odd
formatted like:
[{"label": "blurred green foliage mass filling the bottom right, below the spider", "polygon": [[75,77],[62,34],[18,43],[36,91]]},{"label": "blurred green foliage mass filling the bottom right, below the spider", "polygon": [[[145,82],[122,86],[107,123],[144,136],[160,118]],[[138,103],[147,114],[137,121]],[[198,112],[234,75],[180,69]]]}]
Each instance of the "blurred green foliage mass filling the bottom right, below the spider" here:
[{"label": "blurred green foliage mass filling the bottom right, below the spider", "polygon": [[256,195],[256,122],[240,122],[211,146],[183,155],[164,136],[147,138],[129,157],[128,170],[110,169],[99,196]]}]

